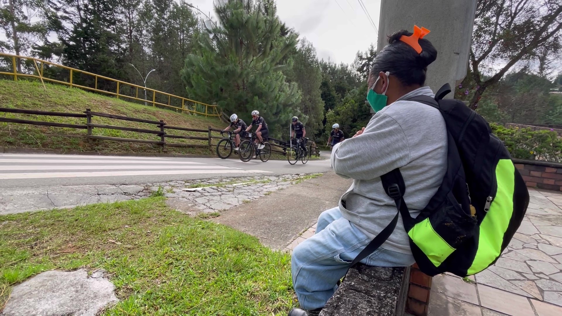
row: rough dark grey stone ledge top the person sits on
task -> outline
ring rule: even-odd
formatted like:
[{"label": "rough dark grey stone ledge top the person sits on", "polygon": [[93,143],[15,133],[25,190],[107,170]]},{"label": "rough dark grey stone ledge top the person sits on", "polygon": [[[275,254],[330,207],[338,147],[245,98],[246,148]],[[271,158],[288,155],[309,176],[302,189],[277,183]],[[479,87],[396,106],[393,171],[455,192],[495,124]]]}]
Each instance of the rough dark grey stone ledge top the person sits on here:
[{"label": "rough dark grey stone ledge top the person sits on", "polygon": [[410,267],[351,268],[320,316],[402,316]]}]

